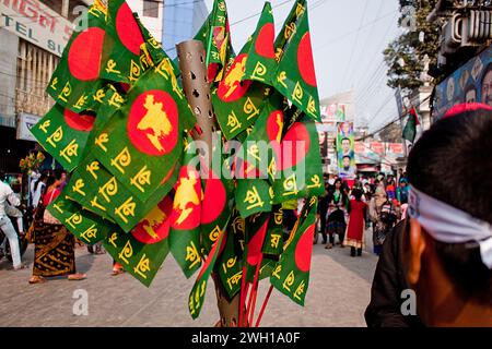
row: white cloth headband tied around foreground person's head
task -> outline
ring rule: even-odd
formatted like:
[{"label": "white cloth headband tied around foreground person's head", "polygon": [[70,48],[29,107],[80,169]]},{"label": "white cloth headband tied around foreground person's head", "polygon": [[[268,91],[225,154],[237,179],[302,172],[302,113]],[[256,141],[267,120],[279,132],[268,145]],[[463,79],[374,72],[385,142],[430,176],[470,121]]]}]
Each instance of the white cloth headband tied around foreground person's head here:
[{"label": "white cloth headband tied around foreground person's head", "polygon": [[429,234],[445,243],[476,241],[484,265],[492,269],[492,226],[410,185],[409,216]]}]

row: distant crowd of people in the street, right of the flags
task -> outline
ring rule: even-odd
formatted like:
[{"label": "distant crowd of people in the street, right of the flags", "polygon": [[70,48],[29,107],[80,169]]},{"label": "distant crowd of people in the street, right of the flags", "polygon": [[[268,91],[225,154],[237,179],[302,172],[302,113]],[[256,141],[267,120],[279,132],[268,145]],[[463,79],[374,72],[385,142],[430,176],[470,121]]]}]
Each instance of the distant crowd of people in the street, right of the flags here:
[{"label": "distant crowd of people in the street, right of the flags", "polygon": [[[396,185],[398,183],[398,185]],[[319,197],[318,233],[326,249],[350,246],[351,256],[361,256],[365,228],[373,228],[374,253],[379,255],[388,232],[408,207],[408,180],[402,169],[397,176],[359,176],[352,188],[337,176],[325,179],[325,195]],[[318,237],[315,237],[315,243]]]}]

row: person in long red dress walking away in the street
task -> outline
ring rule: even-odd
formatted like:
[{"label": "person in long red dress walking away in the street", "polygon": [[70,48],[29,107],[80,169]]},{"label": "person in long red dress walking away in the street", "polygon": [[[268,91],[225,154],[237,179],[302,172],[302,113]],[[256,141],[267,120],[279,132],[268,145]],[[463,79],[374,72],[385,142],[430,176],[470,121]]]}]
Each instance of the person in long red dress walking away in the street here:
[{"label": "person in long red dress walking away in the street", "polygon": [[364,219],[366,217],[367,204],[362,201],[363,192],[360,189],[352,191],[352,198],[349,203],[349,229],[344,241],[345,246],[350,246],[350,255],[355,256],[355,250],[358,256],[362,255],[362,249],[364,246]]}]

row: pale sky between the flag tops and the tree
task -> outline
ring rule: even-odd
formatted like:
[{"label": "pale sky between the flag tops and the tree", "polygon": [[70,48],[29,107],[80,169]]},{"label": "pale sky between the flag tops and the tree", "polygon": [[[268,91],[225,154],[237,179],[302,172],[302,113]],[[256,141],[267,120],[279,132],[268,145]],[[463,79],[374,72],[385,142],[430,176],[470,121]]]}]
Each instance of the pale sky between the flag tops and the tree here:
[{"label": "pale sky between the flag tops and the tree", "polygon": [[[270,1],[277,34],[294,1]],[[226,0],[236,52],[254,33],[263,3],[263,0]],[[319,98],[353,88],[355,122],[365,119],[370,131],[397,118],[395,92],[386,85],[383,50],[401,31],[397,26],[398,0],[308,0],[307,3]],[[206,4],[211,10],[213,0],[206,0]]]}]

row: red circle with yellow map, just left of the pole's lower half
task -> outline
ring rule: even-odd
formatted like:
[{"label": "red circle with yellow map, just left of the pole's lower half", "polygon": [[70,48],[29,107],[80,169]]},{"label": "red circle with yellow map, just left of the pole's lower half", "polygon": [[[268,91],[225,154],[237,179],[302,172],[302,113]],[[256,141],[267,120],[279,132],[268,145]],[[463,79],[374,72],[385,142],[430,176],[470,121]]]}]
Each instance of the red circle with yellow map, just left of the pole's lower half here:
[{"label": "red circle with yellow map, just left of the pole's lower half", "polygon": [[200,173],[190,166],[183,166],[179,170],[179,179],[175,190],[171,227],[178,230],[197,228],[201,219]]}]

